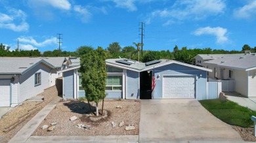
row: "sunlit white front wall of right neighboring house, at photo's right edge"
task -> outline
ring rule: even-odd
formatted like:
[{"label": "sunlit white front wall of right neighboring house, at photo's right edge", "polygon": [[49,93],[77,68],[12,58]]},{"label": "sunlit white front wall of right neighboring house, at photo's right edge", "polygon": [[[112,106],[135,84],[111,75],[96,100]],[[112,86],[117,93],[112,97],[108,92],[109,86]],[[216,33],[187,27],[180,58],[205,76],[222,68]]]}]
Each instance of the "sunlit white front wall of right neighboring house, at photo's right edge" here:
[{"label": "sunlit white front wall of right neighboring house, at photo's right edge", "polygon": [[256,97],[256,70],[248,71],[249,93],[248,97]]}]

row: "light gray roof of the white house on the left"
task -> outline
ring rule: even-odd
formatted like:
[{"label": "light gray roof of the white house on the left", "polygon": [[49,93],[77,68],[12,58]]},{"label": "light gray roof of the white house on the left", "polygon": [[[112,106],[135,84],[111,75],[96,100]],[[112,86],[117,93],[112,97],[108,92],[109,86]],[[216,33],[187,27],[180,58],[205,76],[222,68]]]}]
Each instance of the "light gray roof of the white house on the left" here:
[{"label": "light gray roof of the white house on the left", "polygon": [[0,58],[0,74],[24,74],[39,63],[44,63],[52,69],[56,68],[51,63],[39,58]]}]

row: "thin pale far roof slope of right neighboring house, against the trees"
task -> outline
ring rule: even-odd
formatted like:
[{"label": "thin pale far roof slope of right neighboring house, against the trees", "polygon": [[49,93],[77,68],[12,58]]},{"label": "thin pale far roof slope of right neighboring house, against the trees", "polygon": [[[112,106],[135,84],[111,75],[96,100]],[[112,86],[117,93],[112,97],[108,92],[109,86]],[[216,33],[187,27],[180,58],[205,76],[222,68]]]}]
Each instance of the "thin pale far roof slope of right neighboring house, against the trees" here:
[{"label": "thin pale far roof slope of right neighboring house, against the trees", "polygon": [[245,54],[198,54],[193,59],[196,59],[196,57],[202,57],[203,60],[209,60],[209,59],[219,59],[221,57],[240,57],[244,55]]}]

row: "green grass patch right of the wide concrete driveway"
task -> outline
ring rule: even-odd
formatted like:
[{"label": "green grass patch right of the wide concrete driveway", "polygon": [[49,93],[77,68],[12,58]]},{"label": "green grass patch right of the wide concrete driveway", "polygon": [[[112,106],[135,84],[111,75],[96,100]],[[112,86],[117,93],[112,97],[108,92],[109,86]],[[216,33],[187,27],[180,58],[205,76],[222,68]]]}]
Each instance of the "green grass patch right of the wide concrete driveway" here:
[{"label": "green grass patch right of the wide concrete driveway", "polygon": [[219,99],[200,101],[215,117],[221,119],[229,125],[238,125],[240,127],[250,127],[253,125],[251,116],[256,116],[256,112],[240,106],[232,101],[221,101]]}]

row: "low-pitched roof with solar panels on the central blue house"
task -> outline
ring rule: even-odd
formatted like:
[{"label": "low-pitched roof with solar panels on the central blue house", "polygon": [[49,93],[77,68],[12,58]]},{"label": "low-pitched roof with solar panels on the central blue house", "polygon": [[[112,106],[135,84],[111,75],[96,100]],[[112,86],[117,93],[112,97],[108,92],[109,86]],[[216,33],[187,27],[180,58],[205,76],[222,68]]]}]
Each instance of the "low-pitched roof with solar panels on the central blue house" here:
[{"label": "low-pitched roof with solar panels on the central blue house", "polygon": [[[125,62],[120,63],[119,62],[120,60],[130,62],[131,64],[125,64]],[[186,67],[192,67],[194,69],[200,69],[203,71],[209,71],[209,72],[212,71],[211,69],[206,69],[204,67],[198,67],[196,65],[190,65],[188,63],[182,63],[179,61],[174,61],[174,60],[169,60],[169,59],[160,59],[160,60],[150,61],[147,63],[140,63],[139,61],[129,61],[129,59],[106,59],[106,65],[119,67],[122,69],[129,69],[131,71],[137,71],[137,72],[148,71],[150,69],[162,67],[164,65],[169,65],[172,63],[176,63],[178,65],[184,65]]]}]

